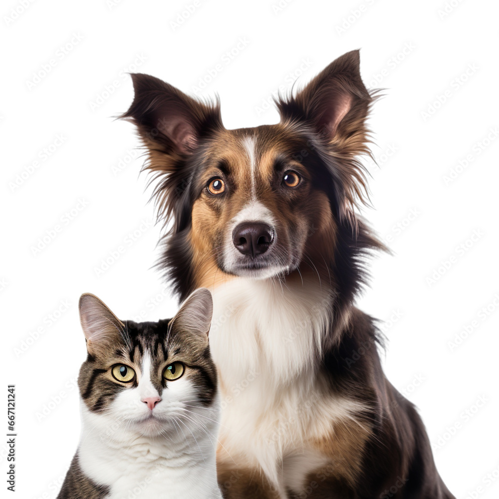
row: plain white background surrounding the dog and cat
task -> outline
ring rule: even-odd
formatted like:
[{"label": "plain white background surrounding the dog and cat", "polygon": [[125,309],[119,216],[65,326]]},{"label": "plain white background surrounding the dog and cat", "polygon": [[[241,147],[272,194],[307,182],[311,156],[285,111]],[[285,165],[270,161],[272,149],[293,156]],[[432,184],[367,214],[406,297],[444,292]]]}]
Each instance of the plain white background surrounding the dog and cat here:
[{"label": "plain white background surrounding the dog and cat", "polygon": [[[122,318],[156,320],[177,306],[153,268],[160,227],[138,139],[113,121],[132,101],[124,72],[218,93],[226,127],[238,128],[275,123],[272,93],[361,48],[366,85],[386,88],[371,119],[379,168],[366,161],[376,210],[364,215],[394,255],[373,261],[359,305],[387,321],[386,373],[440,441],[435,459],[451,491],[496,498],[499,479],[487,475],[499,477],[497,2],[188,4],[2,3],[2,379],[16,384],[17,494],[54,498],[77,446],[79,295],[97,294]],[[4,444],[0,452],[5,477]]]}]

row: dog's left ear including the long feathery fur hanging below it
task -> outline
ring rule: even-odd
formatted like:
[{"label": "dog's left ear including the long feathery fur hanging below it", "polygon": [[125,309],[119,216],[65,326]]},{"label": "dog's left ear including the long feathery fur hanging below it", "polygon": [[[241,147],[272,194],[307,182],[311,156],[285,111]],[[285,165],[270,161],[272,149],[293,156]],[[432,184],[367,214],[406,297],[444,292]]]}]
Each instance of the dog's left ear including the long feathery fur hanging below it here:
[{"label": "dog's left ear including the long feathery fur hanging below it", "polygon": [[120,118],[131,121],[148,150],[145,169],[161,179],[153,192],[158,220],[176,214],[174,230],[188,220],[189,179],[186,163],[204,137],[223,128],[218,101],[206,104],[147,74],[131,75],[135,97]]}]

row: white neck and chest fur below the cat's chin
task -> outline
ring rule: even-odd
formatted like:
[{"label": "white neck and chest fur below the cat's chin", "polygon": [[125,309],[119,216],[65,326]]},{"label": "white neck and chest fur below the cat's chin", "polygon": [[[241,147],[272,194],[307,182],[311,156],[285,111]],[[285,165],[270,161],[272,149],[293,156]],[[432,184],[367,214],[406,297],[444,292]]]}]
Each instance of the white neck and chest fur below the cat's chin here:
[{"label": "white neck and chest fur below the cat's chin", "polygon": [[110,439],[104,426],[98,431],[98,416],[84,407],[82,413],[78,463],[85,476],[109,488],[106,499],[222,499],[209,438],[215,428],[178,441],[134,435]]}]

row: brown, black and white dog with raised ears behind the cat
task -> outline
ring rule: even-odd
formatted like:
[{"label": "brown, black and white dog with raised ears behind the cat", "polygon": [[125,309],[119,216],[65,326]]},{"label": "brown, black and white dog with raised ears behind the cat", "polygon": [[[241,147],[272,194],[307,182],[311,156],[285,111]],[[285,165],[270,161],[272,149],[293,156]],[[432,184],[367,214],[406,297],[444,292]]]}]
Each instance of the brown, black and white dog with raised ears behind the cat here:
[{"label": "brown, black and white dog with raised ears behind the cat", "polygon": [[354,306],[383,245],[356,215],[375,98],[359,53],[276,102],[275,125],[227,130],[218,103],[145,74],[137,127],[159,219],[160,265],[181,299],[213,292],[227,498],[450,499],[414,406],[385,378],[375,320]]}]

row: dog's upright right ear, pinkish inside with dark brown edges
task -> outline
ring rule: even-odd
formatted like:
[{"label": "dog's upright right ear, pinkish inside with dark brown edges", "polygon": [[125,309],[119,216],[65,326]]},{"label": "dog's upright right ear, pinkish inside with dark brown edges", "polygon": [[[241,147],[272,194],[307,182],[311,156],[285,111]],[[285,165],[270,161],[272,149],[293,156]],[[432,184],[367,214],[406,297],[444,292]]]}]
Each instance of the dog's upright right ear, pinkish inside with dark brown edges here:
[{"label": "dog's upright right ear, pinkish inside with dark brown edges", "polygon": [[372,101],[360,77],[359,51],[338,57],[295,96],[279,97],[283,121],[306,122],[343,154],[365,152],[364,121]]}]

